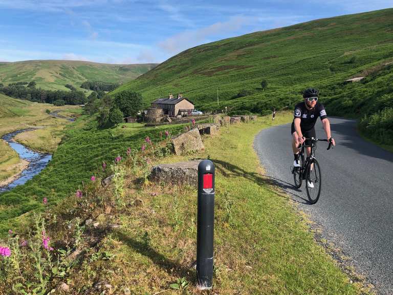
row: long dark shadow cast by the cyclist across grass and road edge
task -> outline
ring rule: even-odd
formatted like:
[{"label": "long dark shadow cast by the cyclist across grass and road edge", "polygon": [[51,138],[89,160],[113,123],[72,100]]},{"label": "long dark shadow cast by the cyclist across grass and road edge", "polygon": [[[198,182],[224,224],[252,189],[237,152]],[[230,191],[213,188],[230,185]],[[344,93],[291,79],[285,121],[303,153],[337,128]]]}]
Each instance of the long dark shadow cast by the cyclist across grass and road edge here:
[{"label": "long dark shadow cast by the cyclist across grass and road edge", "polygon": [[281,188],[282,191],[291,194],[292,196],[295,196],[298,199],[297,200],[295,198],[292,198],[295,202],[311,205],[309,200],[304,199],[302,196],[299,195],[299,193],[301,193],[302,191],[300,189],[295,188],[295,186],[292,183],[268,175],[262,175],[255,172],[248,172],[242,169],[241,167],[238,167],[236,165],[233,165],[231,163],[222,160],[217,160],[217,159],[210,159],[210,160],[213,161],[216,170],[226,177],[239,176],[254,181],[258,185],[262,185],[262,184],[273,185]]}]

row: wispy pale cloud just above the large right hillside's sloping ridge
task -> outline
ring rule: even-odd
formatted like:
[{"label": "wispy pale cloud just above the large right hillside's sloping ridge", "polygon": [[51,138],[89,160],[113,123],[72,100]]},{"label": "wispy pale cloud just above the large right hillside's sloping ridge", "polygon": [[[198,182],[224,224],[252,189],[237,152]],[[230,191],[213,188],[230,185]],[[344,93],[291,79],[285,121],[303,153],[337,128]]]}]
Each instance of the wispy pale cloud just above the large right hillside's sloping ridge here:
[{"label": "wispy pale cloud just above the large right hillside's sloping ridge", "polygon": [[238,31],[242,26],[254,23],[256,20],[255,17],[231,17],[228,22],[219,22],[199,30],[185,31],[174,35],[160,42],[159,47],[171,54],[179,53],[187,48],[204,43],[209,36]]}]

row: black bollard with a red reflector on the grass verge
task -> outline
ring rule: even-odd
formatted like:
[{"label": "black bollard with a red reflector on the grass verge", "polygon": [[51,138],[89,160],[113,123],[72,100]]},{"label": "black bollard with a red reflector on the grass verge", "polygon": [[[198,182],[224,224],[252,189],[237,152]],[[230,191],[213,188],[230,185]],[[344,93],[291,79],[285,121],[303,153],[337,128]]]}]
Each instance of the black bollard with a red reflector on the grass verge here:
[{"label": "black bollard with a red reflector on the grass verge", "polygon": [[211,289],[213,281],[214,164],[198,165],[197,279],[198,288]]}]

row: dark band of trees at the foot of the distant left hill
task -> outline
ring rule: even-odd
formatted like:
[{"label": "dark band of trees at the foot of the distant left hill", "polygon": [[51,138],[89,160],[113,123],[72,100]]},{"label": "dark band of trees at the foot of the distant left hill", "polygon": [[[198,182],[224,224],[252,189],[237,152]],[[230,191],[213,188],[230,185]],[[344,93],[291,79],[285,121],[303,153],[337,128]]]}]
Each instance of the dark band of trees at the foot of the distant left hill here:
[{"label": "dark band of trees at the foot of the distant left hill", "polygon": [[[25,85],[27,85],[27,87]],[[34,81],[29,83],[11,83],[8,86],[4,86],[0,83],[0,92],[14,98],[53,103],[57,106],[63,106],[64,104],[82,104],[86,102],[86,96],[83,91],[43,90],[35,86],[36,83]]]}]

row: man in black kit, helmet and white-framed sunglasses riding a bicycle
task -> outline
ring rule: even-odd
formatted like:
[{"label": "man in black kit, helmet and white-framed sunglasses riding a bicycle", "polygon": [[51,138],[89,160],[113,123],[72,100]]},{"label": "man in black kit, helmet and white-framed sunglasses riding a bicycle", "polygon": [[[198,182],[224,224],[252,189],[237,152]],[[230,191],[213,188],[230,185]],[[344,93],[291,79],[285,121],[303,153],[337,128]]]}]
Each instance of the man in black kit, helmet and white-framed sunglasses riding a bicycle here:
[{"label": "man in black kit, helmet and white-framed sunglasses riding a bicycle", "polygon": [[[293,162],[294,167],[300,167],[300,150],[298,145],[304,142],[304,138],[316,138],[314,125],[318,117],[321,118],[326,137],[333,145],[336,145],[334,138],[331,136],[330,122],[326,116],[325,108],[318,102],[318,93],[317,89],[307,88],[303,93],[304,102],[300,102],[295,106],[294,119],[291,126],[292,150],[295,158]],[[306,144],[309,143],[306,142]],[[310,157],[311,147],[307,147],[306,151],[307,156]],[[308,183],[308,185],[312,187],[313,183]]]}]

